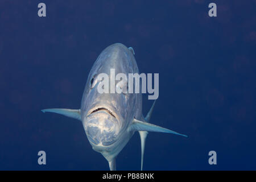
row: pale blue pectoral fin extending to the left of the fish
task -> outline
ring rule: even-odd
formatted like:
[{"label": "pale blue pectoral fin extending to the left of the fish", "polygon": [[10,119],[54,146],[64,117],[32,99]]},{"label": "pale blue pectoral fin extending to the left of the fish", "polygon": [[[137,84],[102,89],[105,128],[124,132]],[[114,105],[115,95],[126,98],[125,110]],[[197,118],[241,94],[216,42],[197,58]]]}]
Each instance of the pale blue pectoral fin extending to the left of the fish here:
[{"label": "pale blue pectoral fin extending to the left of the fish", "polygon": [[75,118],[81,121],[80,109],[43,109],[41,111],[43,113],[50,112],[50,113],[62,114],[69,118]]}]

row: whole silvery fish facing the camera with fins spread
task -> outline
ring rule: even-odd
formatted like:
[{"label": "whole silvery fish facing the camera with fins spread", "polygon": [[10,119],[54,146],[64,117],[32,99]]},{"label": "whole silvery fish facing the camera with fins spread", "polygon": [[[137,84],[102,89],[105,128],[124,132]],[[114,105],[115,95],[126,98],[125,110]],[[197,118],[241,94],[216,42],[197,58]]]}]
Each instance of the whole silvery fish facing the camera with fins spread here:
[{"label": "whole silvery fish facing the camera with fins spread", "polygon": [[[115,73],[138,73],[139,69],[134,57],[134,49],[121,43],[106,47],[94,62],[82,94],[80,109],[43,109],[43,113],[51,112],[75,118],[82,122],[86,137],[94,151],[100,152],[109,163],[111,171],[116,170],[115,159],[136,131],[141,137],[141,170],[145,141],[148,132],[160,132],[181,135],[175,131],[154,125],[150,122],[155,101],[146,117],[142,114],[142,93],[130,92],[98,92],[98,86],[105,80],[100,74],[112,77]],[[129,84],[110,85],[129,87]],[[126,88],[129,89],[129,88]]]}]

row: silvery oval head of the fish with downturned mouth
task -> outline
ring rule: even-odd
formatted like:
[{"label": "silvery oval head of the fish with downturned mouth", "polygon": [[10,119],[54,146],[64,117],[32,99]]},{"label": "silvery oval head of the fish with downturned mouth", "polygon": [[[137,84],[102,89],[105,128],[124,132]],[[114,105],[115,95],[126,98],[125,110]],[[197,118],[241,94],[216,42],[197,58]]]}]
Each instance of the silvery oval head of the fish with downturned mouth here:
[{"label": "silvery oval head of the fish with downturned mouth", "polygon": [[[112,93],[110,90],[113,69],[115,75],[123,73],[127,77],[128,73],[134,72],[134,68],[138,69],[131,59],[135,58],[130,49],[122,44],[113,44],[102,51],[89,73],[81,103],[82,123],[86,136],[96,151],[99,148],[97,146],[102,150],[102,147],[117,142],[118,136],[127,130],[134,117],[136,94]],[[98,90],[98,86],[105,80],[99,77],[102,73],[109,78],[107,93],[100,93]],[[126,80],[122,81],[123,84],[120,84],[120,81],[114,79],[114,87],[127,86]]]}]

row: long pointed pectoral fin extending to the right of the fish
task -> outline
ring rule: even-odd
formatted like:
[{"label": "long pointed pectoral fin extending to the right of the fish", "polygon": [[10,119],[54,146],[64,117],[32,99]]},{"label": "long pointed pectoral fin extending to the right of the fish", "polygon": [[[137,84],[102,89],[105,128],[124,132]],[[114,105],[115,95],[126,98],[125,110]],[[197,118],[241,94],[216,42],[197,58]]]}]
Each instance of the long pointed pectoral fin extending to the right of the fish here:
[{"label": "long pointed pectoral fin extending to the right of the fish", "polygon": [[139,121],[138,119],[135,119],[135,118],[133,119],[133,123],[129,127],[129,131],[153,131],[153,132],[171,133],[171,134],[181,135],[183,137],[188,137],[187,135],[177,133],[176,131],[166,129],[161,126],[153,125],[151,123]]}]

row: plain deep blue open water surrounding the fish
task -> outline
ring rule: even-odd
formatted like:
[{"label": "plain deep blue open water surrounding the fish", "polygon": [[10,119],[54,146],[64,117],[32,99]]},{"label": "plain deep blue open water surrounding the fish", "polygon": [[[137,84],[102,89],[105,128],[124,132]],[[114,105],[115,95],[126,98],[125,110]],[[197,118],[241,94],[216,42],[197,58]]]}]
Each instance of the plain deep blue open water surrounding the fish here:
[{"label": "plain deep blue open water surrounding the fish", "polygon": [[[46,18],[38,17],[40,2]],[[79,109],[90,68],[117,42],[134,48],[141,72],[159,73],[151,122],[189,135],[150,133],[144,169],[256,169],[255,3],[1,0],[0,169],[109,169],[81,122],[40,110]],[[46,166],[37,163],[40,150]],[[140,163],[136,133],[117,169]]]}]

